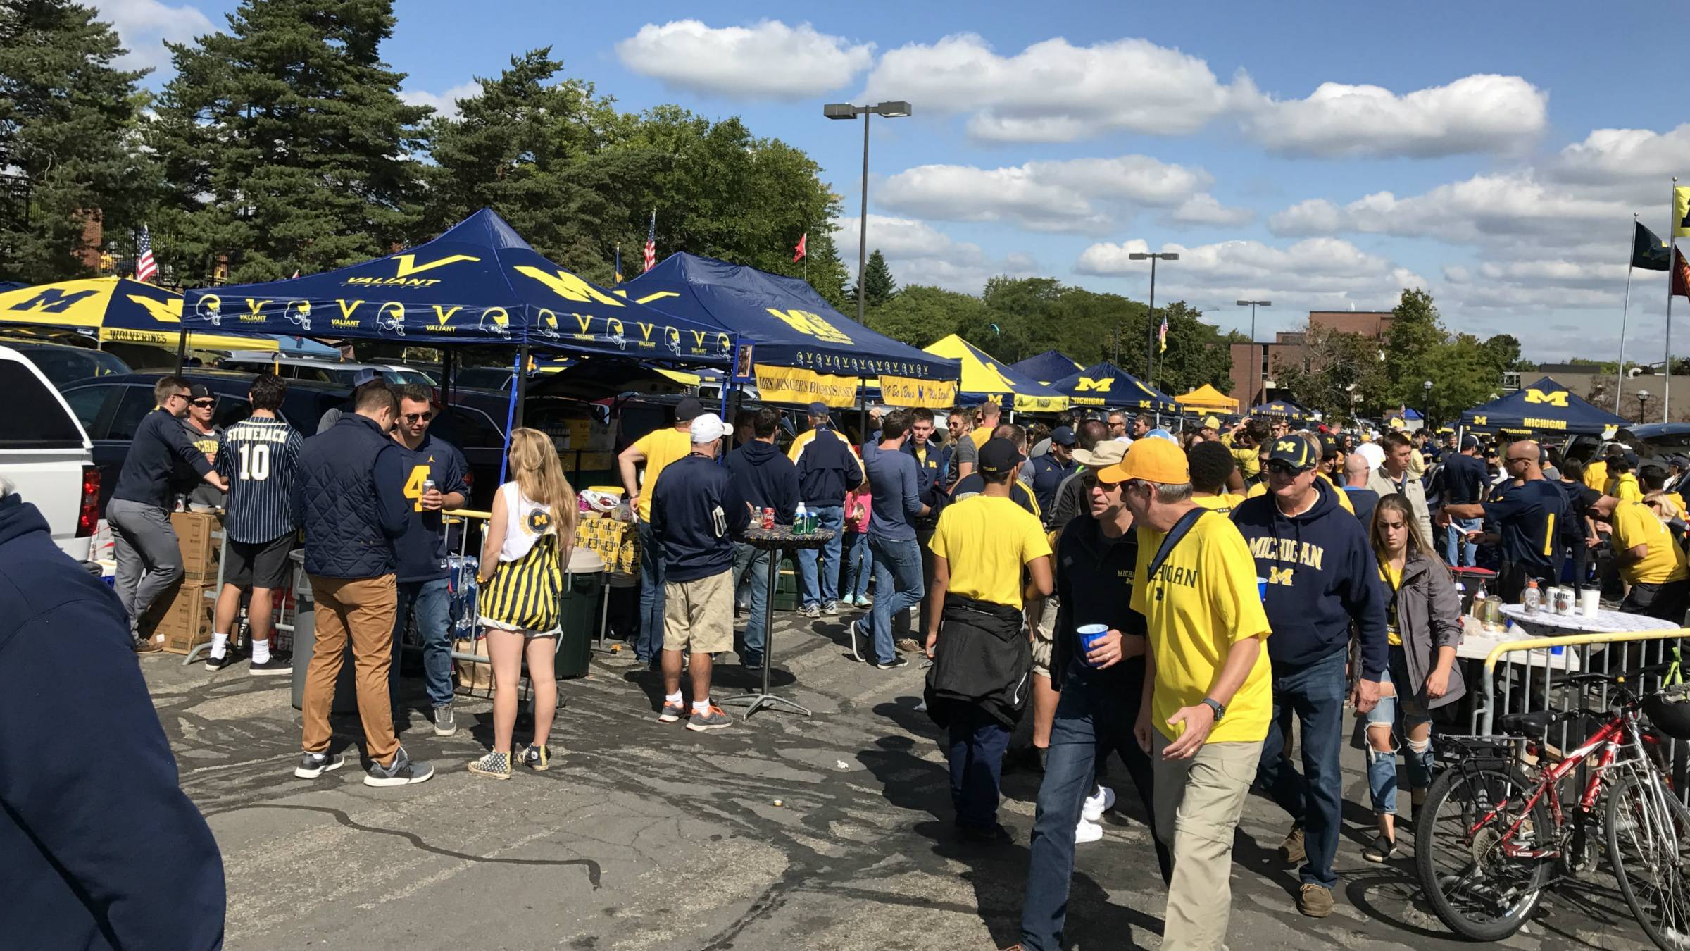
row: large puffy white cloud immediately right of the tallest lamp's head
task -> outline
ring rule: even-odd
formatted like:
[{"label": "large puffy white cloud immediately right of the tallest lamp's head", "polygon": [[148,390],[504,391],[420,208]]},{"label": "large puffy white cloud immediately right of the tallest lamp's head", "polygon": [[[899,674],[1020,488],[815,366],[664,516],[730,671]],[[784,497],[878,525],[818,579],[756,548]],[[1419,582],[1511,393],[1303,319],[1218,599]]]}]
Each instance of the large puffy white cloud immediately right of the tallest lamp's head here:
[{"label": "large puffy white cloud immediately right of the tallest lamp's head", "polygon": [[880,56],[864,96],[918,110],[975,112],[968,132],[1000,142],[1071,142],[1107,132],[1197,132],[1256,91],[1215,80],[1195,56],[1146,39],[1077,47],[1056,37],[1000,56],[975,34]]}]

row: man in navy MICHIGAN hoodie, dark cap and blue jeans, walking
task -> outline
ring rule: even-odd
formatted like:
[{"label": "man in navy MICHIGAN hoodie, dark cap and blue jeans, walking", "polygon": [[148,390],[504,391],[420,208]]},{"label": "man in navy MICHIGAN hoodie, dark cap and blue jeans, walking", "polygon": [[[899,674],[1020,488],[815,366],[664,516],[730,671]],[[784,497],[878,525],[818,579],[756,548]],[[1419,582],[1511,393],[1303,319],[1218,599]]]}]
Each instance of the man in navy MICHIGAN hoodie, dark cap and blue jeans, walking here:
[{"label": "man in navy MICHIGAN hoodie, dark cap and blue jeans, walking", "polygon": [[[1273,721],[1262,743],[1256,785],[1291,814],[1281,848],[1286,861],[1303,865],[1296,910],[1308,917],[1332,914],[1338,883],[1338,816],[1350,621],[1360,631],[1362,670],[1355,712],[1379,701],[1386,667],[1386,604],[1379,563],[1367,533],[1338,508],[1337,489],[1315,474],[1318,445],[1301,433],[1283,435],[1268,450],[1268,494],[1232,509],[1232,521],[1268,580],[1266,609],[1273,638]],[[1303,773],[1284,756],[1291,716],[1301,723]]]}]

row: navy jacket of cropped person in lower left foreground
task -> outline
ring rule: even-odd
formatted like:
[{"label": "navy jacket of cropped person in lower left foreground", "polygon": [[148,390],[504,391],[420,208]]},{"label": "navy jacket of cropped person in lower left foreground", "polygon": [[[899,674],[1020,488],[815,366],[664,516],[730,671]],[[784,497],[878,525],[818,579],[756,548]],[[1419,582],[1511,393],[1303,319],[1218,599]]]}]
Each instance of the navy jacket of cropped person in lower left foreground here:
[{"label": "navy jacket of cropped person in lower left foreground", "polygon": [[[0,497],[0,944],[223,946],[223,860],[183,794],[112,589]],[[98,751],[66,750],[96,736]]]}]

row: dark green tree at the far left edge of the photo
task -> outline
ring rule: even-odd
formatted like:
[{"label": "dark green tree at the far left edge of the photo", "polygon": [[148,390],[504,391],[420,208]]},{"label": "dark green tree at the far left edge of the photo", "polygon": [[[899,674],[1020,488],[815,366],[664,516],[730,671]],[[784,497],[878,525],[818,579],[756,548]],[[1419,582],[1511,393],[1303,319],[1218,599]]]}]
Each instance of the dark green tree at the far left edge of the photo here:
[{"label": "dark green tree at the far left edge of the photo", "polygon": [[112,64],[125,51],[95,17],[69,0],[0,0],[0,274],[8,278],[83,276],[86,223],[139,228],[152,174],[135,142],[144,73]]}]

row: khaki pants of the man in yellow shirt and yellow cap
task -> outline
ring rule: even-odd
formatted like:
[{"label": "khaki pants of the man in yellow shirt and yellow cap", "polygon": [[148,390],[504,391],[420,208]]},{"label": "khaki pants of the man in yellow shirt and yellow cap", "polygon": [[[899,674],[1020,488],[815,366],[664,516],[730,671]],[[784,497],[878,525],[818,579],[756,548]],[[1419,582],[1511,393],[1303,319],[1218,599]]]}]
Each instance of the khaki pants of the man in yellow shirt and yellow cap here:
[{"label": "khaki pants of the man in yellow shirt and yellow cap", "polygon": [[1218,949],[1232,914],[1232,833],[1256,778],[1261,743],[1205,743],[1190,760],[1163,760],[1169,739],[1151,729],[1156,836],[1173,846],[1163,915],[1168,951]]}]

